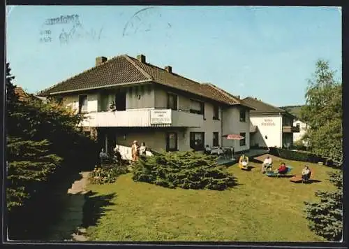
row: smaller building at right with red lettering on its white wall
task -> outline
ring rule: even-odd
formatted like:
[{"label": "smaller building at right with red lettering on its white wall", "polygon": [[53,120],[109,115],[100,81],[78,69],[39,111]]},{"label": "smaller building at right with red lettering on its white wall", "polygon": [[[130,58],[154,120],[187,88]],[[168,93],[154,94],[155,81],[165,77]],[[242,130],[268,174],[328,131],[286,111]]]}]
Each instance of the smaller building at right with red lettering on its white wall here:
[{"label": "smaller building at right with red lettering on its white wall", "polygon": [[251,110],[251,146],[289,148],[293,144],[293,134],[299,132],[293,120],[295,116],[259,99],[246,97]]}]

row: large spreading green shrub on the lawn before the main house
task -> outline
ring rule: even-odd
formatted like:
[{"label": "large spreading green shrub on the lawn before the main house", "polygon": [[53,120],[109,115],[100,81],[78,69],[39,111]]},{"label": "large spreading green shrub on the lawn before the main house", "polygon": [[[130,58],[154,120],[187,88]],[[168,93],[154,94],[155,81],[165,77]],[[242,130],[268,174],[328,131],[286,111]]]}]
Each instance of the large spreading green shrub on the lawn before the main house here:
[{"label": "large spreading green shrub on the lawn before the main house", "polygon": [[163,187],[225,190],[235,178],[216,159],[197,152],[159,152],[134,164],[133,180]]}]

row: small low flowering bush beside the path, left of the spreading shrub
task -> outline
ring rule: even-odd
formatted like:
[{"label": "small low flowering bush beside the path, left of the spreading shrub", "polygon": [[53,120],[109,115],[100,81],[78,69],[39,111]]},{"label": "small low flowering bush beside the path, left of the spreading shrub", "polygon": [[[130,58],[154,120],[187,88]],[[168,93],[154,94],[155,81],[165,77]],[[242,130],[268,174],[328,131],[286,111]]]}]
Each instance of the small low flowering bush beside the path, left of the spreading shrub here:
[{"label": "small low flowering bush beside the path, left of the spreading shrub", "polygon": [[127,172],[125,164],[104,164],[89,173],[89,180],[93,184],[114,183],[118,176]]}]

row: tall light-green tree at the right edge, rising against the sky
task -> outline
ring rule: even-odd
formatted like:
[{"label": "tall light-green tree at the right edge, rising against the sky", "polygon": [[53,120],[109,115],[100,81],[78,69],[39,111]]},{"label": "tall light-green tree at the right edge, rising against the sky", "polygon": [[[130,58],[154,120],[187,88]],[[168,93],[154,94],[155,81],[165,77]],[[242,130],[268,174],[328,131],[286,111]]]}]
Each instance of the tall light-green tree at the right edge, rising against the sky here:
[{"label": "tall light-green tree at the right edge, rising against the sky", "polygon": [[342,86],[334,80],[334,71],[328,62],[316,63],[314,76],[309,80],[306,105],[301,117],[307,125],[304,139],[309,150],[317,155],[343,162]]}]

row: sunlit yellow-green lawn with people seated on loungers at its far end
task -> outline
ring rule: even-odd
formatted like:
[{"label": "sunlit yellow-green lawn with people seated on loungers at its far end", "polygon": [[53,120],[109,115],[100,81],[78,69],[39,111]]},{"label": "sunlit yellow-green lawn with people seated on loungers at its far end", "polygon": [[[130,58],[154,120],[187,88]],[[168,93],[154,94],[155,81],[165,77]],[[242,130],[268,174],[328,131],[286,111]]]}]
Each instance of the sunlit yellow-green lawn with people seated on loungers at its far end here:
[{"label": "sunlit yellow-green lawn with people seated on loungers at its far end", "polygon": [[[274,167],[280,161],[274,157]],[[282,161],[295,174],[304,166]],[[93,241],[321,241],[306,225],[303,201],[315,200],[315,190],[334,189],[326,173],[334,169],[308,164],[321,182],[306,185],[268,178],[260,164],[251,165],[252,171],[230,166],[239,185],[222,192],[170,190],[135,183],[131,174],[116,183],[89,185],[101,214],[87,234]],[[102,201],[112,194],[109,204]]]}]

